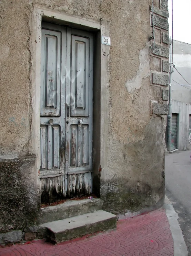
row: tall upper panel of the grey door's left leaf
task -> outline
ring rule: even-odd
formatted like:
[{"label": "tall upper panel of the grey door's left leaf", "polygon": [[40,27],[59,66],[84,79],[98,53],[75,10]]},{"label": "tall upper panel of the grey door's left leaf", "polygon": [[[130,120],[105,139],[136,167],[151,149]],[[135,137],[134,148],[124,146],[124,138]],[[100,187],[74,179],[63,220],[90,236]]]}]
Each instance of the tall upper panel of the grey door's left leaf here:
[{"label": "tall upper panel of the grey door's left leaf", "polygon": [[61,32],[42,29],[41,116],[60,116]]}]

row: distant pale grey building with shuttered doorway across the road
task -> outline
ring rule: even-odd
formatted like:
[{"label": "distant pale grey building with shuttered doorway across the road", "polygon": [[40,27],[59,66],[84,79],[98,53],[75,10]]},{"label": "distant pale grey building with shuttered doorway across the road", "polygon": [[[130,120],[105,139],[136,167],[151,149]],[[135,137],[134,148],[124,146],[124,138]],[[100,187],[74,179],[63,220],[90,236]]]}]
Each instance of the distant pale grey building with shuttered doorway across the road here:
[{"label": "distant pale grey building with shuttered doorway across the road", "polygon": [[[170,45],[172,47],[172,44]],[[173,40],[171,151],[186,150],[191,132],[191,44]]]}]

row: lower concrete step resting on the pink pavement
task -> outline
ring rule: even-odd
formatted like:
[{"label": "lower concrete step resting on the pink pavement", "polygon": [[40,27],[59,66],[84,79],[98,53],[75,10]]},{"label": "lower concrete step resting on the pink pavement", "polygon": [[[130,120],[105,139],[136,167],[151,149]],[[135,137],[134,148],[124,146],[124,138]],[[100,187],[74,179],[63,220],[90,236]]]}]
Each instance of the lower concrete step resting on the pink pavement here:
[{"label": "lower concrete step resting on the pink pavement", "polygon": [[54,244],[98,231],[115,229],[117,216],[102,210],[41,224]]}]

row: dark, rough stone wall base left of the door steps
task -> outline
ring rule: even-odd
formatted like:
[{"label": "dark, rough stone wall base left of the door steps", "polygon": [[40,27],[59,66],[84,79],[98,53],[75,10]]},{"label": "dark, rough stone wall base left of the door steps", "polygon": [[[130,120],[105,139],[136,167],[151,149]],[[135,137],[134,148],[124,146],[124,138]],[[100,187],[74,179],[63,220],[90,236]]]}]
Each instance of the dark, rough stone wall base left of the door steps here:
[{"label": "dark, rough stone wall base left of the door steps", "polygon": [[0,233],[22,230],[37,220],[35,159],[28,156],[0,160]]}]

